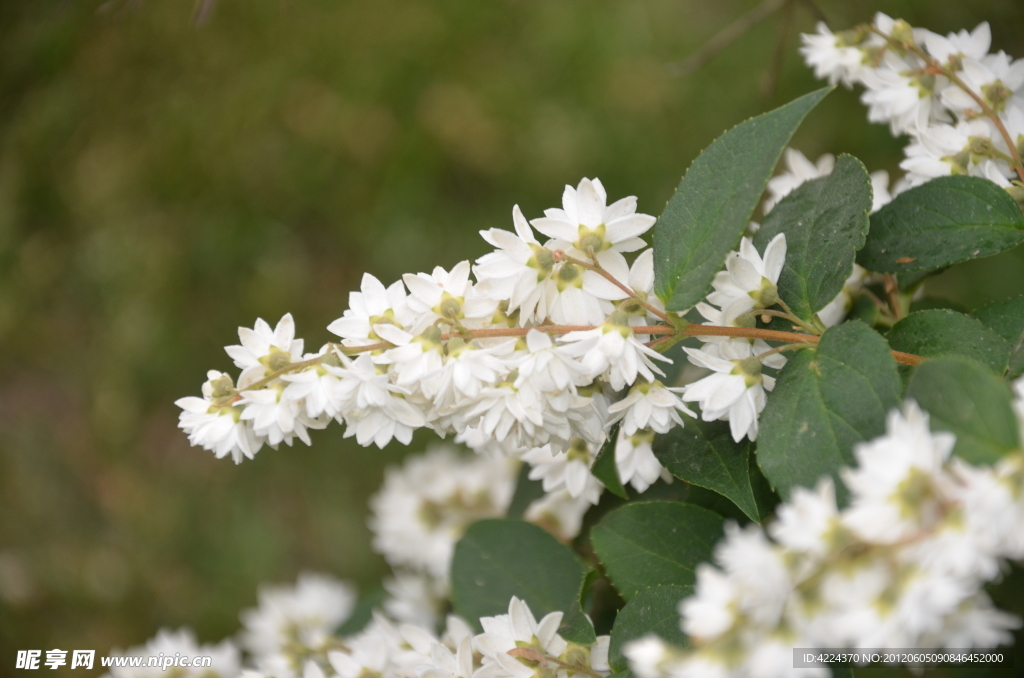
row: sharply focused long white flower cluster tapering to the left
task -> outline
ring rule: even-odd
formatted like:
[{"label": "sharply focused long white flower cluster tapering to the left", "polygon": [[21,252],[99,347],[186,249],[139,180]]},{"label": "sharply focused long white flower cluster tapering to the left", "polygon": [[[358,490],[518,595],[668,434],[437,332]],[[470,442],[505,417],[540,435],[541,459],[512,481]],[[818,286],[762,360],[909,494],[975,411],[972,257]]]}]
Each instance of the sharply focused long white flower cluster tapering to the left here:
[{"label": "sharply focused long white flower cluster tapering to the left", "polygon": [[[177,401],[180,426],[236,463],[264,443],[308,444],[309,429],[332,420],[364,446],[408,443],[430,427],[530,463],[549,493],[534,518],[572,537],[601,493],[589,469],[612,426],[622,422],[622,479],[642,492],[662,473],[653,434],[692,414],[658,380],[655,362],[671,361],[648,345],[651,332],[673,327],[639,238],[653,223],[635,198],[608,205],[597,179],[566,186],[562,208],[532,222],[516,207],[514,231],[482,231],[498,249],[475,265],[390,286],[364,276],[328,326],[338,343],[304,353],[291,315],[240,329],[240,345],[226,349],[242,370],[237,383],[210,372],[202,397]],[[629,263],[625,254],[639,250]],[[444,561],[430,558],[435,569]]]}]

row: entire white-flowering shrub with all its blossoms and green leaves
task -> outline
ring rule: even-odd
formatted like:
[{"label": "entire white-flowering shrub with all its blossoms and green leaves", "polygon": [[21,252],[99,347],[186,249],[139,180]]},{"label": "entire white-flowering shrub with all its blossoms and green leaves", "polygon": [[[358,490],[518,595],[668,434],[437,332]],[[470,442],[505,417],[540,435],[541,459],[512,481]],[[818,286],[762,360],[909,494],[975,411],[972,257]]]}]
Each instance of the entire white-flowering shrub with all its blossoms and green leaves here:
[{"label": "entire white-flowering shrub with all its blossoms and green leaves", "polygon": [[784,676],[794,647],[1011,642],[1021,621],[984,587],[1024,558],[1024,298],[913,302],[1024,240],[1024,61],[989,54],[986,25],[882,14],[804,40],[911,137],[891,188],[786,150],[828,87],[726,132],[657,219],[585,178],[481,232],[475,263],[365,276],[316,351],[291,315],[240,329],[238,378],[178,400],[193,444],[241,463],[338,422],[364,446],[429,427],[473,451],[388,473],[384,600],[315,576],[261,591],[248,666]]}]

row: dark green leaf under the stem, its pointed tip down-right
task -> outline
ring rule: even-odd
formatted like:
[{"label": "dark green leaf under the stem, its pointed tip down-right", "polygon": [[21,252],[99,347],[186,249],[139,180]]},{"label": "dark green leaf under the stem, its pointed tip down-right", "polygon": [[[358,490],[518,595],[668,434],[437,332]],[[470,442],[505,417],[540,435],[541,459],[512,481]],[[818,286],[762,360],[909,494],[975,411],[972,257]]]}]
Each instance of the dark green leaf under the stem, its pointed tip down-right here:
[{"label": "dark green leaf under the stem, its pointed tip down-right", "polygon": [[751,520],[761,522],[775,496],[757,466],[754,443],[734,442],[728,422],[683,415],[684,425],[654,437],[654,456],[669,472],[690,484],[729,498]]}]

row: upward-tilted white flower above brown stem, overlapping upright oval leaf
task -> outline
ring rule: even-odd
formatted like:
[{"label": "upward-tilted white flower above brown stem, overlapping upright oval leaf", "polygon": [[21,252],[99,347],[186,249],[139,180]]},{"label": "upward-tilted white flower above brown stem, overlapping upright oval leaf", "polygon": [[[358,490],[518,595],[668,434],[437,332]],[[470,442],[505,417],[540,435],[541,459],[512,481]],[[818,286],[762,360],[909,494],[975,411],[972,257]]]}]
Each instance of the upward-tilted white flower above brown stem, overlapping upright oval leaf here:
[{"label": "upward-tilted white flower above brown stem, overlapping upright oval leaf", "polygon": [[726,317],[736,317],[754,308],[771,306],[778,299],[778,277],[785,263],[785,234],[775,236],[765,247],[764,258],[750,238],[739,241],[739,251],[730,252],[725,270],[712,283],[715,291],[708,301],[722,309]]}]

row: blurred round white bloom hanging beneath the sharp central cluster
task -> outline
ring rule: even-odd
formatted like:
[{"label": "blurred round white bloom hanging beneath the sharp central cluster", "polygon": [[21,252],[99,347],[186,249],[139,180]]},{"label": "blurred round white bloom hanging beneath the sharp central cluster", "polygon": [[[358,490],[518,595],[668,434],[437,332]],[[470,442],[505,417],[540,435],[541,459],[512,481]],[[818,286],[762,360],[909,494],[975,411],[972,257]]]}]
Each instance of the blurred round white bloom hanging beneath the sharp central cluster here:
[{"label": "blurred round white bloom hanging beneath the sharp central cluster", "polygon": [[455,543],[470,523],[505,514],[515,490],[515,464],[461,457],[435,447],[389,468],[370,500],[374,548],[395,566],[447,581]]}]

